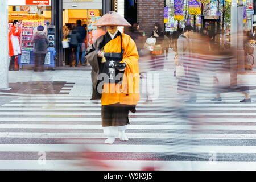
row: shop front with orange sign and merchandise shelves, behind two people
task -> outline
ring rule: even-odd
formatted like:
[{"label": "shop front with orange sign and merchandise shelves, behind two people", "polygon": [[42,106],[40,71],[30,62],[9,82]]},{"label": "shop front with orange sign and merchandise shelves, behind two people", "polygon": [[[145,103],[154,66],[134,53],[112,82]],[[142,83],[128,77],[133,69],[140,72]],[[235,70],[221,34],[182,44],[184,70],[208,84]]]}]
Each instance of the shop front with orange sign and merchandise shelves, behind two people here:
[{"label": "shop front with orange sign and merchandise shelves, behind two people", "polygon": [[48,31],[51,43],[46,56],[46,67],[55,67],[55,32],[50,27],[52,6],[51,0],[9,0],[9,26],[14,20],[19,20],[22,26],[22,34],[19,36],[22,55],[16,58],[16,68],[31,67],[34,65],[32,38],[39,25],[44,26],[44,31]]}]

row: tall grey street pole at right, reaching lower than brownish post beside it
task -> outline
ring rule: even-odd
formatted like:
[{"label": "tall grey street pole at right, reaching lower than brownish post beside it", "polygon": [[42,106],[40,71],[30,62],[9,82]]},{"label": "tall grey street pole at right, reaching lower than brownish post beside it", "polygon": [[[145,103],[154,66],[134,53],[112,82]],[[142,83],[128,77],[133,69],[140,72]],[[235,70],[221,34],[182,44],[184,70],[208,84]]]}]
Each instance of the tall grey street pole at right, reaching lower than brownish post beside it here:
[{"label": "tall grey street pole at right, reaching lower than brownish post beside it", "polygon": [[237,0],[231,2],[230,43],[233,58],[230,61],[230,86],[237,86]]}]

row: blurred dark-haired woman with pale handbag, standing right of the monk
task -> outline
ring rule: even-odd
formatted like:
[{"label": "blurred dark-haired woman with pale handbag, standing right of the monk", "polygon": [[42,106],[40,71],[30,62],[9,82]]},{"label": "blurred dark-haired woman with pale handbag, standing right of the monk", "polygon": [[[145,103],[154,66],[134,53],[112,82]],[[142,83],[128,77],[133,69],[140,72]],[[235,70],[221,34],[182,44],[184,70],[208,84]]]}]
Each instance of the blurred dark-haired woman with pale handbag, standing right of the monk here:
[{"label": "blurred dark-haired woman with pale handbag, standing right of the monk", "polygon": [[164,67],[164,51],[163,51],[163,40],[164,33],[159,23],[155,23],[155,29],[152,31],[153,38],[156,39],[154,50],[152,51],[152,67],[153,69],[163,69]]}]

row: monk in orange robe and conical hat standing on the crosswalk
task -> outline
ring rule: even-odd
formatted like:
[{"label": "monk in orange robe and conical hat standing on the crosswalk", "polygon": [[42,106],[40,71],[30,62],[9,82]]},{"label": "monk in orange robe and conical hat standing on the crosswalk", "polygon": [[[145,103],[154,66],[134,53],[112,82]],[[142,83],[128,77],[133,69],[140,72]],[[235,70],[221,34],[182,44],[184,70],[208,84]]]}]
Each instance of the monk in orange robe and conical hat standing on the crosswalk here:
[{"label": "monk in orange robe and conical hat standing on the crosswalk", "polygon": [[105,144],[115,138],[127,141],[129,111],[135,113],[139,97],[138,51],[129,35],[118,26],[131,26],[121,15],[110,11],[94,26],[106,26],[107,32],[87,49],[86,59],[92,66],[93,93],[91,100],[101,99],[101,119]]}]

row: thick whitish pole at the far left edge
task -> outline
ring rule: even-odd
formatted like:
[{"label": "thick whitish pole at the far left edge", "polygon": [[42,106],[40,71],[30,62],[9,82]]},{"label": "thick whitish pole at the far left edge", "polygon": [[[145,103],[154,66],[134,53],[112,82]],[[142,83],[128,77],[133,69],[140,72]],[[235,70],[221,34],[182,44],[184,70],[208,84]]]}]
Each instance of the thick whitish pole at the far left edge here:
[{"label": "thick whitish pole at the far left edge", "polygon": [[0,89],[8,88],[8,67],[9,67],[9,52],[8,52],[8,1],[0,1]]}]

